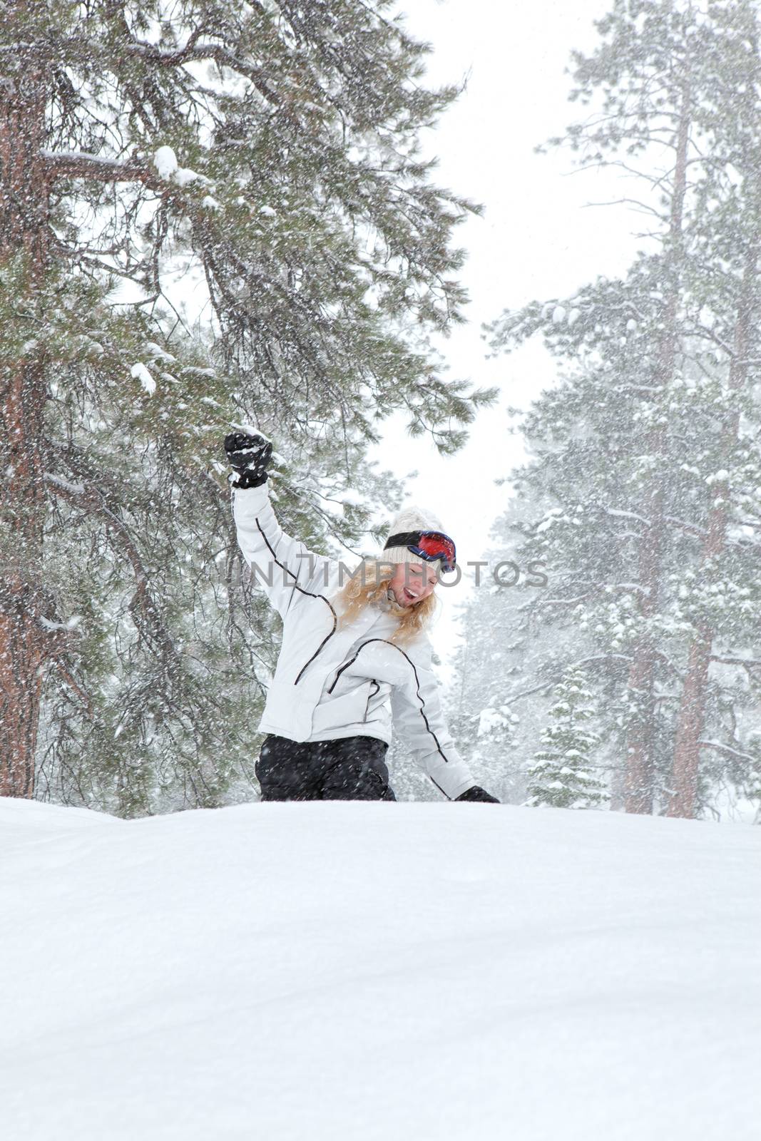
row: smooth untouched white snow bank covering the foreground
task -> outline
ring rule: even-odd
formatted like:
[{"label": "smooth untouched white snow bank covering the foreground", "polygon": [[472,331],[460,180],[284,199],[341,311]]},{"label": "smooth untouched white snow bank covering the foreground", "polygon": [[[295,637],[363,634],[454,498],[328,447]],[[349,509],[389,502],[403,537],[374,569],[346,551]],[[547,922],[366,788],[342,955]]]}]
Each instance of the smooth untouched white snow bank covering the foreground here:
[{"label": "smooth untouched white snow bank covering the foreground", "polygon": [[755,1141],[761,828],[0,800],[5,1141]]}]

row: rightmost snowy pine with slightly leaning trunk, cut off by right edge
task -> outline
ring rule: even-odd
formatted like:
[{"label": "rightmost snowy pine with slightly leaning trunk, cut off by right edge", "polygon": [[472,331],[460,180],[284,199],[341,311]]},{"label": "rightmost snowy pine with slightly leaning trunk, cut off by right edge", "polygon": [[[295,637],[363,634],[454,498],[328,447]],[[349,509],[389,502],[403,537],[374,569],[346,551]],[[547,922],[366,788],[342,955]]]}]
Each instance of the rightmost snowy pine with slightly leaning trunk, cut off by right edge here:
[{"label": "rightmost snowy pine with slightly leaning trunk, cut off by right edge", "polygon": [[[697,569],[699,586],[696,584],[693,590],[689,609],[694,633],[687,653],[666,808],[670,816],[687,817],[696,815],[703,800],[698,791],[701,752],[704,748],[703,730],[710,723],[706,705],[712,688],[712,661],[723,665],[739,664],[748,671],[750,687],[743,679],[740,690],[745,689],[747,694],[750,688],[751,699],[756,689],[755,671],[759,667],[753,642],[744,649],[747,602],[752,597],[747,583],[754,578],[754,572],[747,565],[747,553],[748,547],[753,548],[755,543],[748,543],[740,535],[747,535],[748,531],[758,535],[759,529],[755,518],[758,496],[753,494],[753,483],[748,488],[748,476],[758,487],[759,459],[748,427],[758,420],[752,362],[758,359],[761,349],[758,333],[761,316],[761,181],[758,168],[761,26],[756,10],[745,3],[715,6],[713,18],[721,32],[721,50],[714,51],[711,58],[711,111],[717,120],[717,149],[721,147],[723,152],[715,154],[714,163],[720,171],[718,181],[723,191],[723,209],[721,226],[710,230],[705,241],[713,254],[714,274],[720,277],[724,294],[724,327],[714,327],[713,331],[724,339],[729,361],[724,383],[714,400],[717,427],[710,477],[711,500]],[[727,106],[732,107],[731,115],[724,114]],[[720,195],[714,192],[714,197]],[[737,655],[734,663],[732,646]],[[739,705],[743,696],[742,691],[738,693],[732,704]],[[715,745],[710,747],[715,748]],[[736,758],[738,754],[737,751],[724,751],[723,755]],[[739,775],[736,783],[747,783],[747,776]]]}]

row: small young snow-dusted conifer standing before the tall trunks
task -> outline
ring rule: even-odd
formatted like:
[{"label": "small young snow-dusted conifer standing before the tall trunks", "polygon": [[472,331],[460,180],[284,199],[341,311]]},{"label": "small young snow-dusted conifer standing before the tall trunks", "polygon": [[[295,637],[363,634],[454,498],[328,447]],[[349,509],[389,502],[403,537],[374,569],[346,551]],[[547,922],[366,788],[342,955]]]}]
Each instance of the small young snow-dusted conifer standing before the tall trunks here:
[{"label": "small young snow-dusted conifer standing before the tall trunks", "polygon": [[599,737],[590,728],[594,710],[584,675],[570,671],[556,687],[541,748],[527,766],[528,800],[536,808],[596,808],[606,799],[591,754]]}]

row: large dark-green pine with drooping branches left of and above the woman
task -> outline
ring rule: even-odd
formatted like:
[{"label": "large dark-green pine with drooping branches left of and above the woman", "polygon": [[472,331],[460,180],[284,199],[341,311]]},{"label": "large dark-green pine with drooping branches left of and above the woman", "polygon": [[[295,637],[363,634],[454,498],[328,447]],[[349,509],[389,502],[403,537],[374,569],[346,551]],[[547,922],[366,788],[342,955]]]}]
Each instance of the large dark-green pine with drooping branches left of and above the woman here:
[{"label": "large dark-green pine with drooping branches left of and above the woman", "polygon": [[0,2],[5,794],[248,788],[277,626],[221,436],[260,424],[284,524],[343,552],[398,497],[382,416],[446,451],[488,399],[424,348],[475,208],[420,159],[456,92],[387,8]]}]

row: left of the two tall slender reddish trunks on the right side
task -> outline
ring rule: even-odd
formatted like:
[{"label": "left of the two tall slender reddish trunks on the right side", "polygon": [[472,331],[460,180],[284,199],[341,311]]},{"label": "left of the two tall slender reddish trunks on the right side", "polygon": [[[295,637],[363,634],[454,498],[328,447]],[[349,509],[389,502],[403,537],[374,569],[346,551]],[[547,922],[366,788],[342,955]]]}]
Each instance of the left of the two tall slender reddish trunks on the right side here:
[{"label": "left of the two tall slender reddish trunks on the right side", "polygon": [[[689,60],[683,62],[685,73]],[[665,259],[665,299],[663,307],[663,333],[658,346],[655,383],[665,388],[673,379],[677,349],[679,346],[679,300],[682,273],[682,225],[685,195],[687,193],[687,155],[691,95],[688,79],[685,80],[679,113],[679,127],[674,144],[675,162],[673,192],[669,219],[667,254]],[[663,475],[666,470],[667,442],[662,427],[656,428],[650,439],[650,452],[658,460],[649,493],[639,505],[639,511],[649,523],[642,535],[639,551],[638,582],[642,588],[640,617],[647,628],[658,608],[661,588],[661,563],[664,547]],[[624,810],[649,814],[655,796],[655,677],[656,647],[646,629],[634,646],[629,671],[628,688],[637,704],[638,715],[629,727],[626,743],[626,769],[624,775]]]}]

